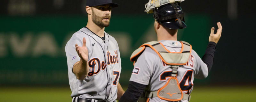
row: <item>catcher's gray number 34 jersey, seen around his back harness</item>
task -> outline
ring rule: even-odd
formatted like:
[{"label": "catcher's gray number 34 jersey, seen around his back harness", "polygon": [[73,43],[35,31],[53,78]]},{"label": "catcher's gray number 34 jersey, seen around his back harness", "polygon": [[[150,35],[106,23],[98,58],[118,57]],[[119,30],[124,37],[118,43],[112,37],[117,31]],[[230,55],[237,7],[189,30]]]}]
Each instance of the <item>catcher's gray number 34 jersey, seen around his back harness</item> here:
[{"label": "catcher's gray number 34 jersey, seen around his back harness", "polygon": [[[164,47],[170,52],[180,52],[181,43],[174,40],[161,40]],[[169,77],[172,69],[169,68],[156,52],[150,47],[146,47],[144,52],[134,63],[134,69],[130,81],[148,85],[146,91],[157,91],[163,87]],[[190,94],[193,90],[194,77],[203,79],[208,76],[207,65],[201,60],[194,50],[191,51],[188,63],[178,68],[178,81],[183,93]],[[158,97],[150,98],[150,102],[167,102]],[[182,102],[187,100],[182,99]]]}]

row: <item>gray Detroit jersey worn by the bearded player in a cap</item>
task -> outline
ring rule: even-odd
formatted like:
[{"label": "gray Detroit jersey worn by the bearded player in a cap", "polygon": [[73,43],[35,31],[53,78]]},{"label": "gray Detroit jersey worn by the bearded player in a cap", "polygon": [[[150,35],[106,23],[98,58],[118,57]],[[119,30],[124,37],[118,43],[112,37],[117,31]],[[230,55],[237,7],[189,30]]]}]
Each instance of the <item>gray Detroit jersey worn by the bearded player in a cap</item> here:
[{"label": "gray Detroit jersey worn by the bearded player in a cap", "polygon": [[[105,33],[105,43],[87,27],[74,33],[65,51],[68,62],[68,79],[71,97],[93,98],[100,101],[113,101],[117,98],[117,84],[121,73],[121,59],[116,40]],[[73,73],[73,65],[80,61],[75,44],[83,45],[86,39],[89,73],[84,80],[78,80]]]}]

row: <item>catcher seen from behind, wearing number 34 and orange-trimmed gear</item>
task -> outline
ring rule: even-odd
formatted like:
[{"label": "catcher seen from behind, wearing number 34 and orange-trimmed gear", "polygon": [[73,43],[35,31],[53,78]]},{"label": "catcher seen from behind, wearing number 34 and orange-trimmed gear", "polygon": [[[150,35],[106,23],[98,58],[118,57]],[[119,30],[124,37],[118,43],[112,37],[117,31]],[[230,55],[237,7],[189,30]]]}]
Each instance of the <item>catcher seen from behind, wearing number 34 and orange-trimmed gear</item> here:
[{"label": "catcher seen from behind, wearing number 34 and orange-trimmed gear", "polygon": [[222,26],[217,23],[216,34],[212,27],[201,59],[188,42],[177,41],[178,29],[187,27],[182,1],[149,0],[146,4],[146,12],[154,13],[157,41],[145,43],[132,53],[130,84],[119,102],[188,102],[194,78],[208,76]]}]

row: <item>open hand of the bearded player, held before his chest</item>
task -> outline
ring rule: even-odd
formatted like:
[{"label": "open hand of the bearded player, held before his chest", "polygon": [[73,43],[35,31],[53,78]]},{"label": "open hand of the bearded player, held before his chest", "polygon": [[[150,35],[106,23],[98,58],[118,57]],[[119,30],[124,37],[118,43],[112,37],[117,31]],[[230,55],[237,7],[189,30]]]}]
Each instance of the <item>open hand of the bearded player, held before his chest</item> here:
[{"label": "open hand of the bearded player, held before his chest", "polygon": [[79,57],[81,58],[82,62],[87,62],[88,61],[88,50],[86,47],[86,40],[85,38],[83,38],[83,46],[80,47],[76,44],[76,52],[79,55]]}]

